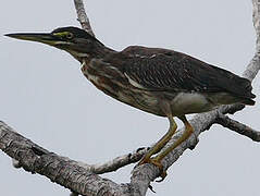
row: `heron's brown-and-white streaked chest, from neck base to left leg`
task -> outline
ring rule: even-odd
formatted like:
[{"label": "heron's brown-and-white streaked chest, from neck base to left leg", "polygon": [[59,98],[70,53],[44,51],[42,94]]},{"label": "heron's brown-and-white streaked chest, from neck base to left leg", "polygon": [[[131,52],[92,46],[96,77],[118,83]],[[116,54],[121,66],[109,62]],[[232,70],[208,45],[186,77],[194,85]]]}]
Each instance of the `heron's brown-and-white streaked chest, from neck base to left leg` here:
[{"label": "heron's brown-and-white streaked chest, from neck base to left leg", "polygon": [[83,74],[104,94],[140,110],[163,115],[158,107],[158,98],[150,91],[133,86],[127,76],[109,64],[91,60],[82,65]]}]

